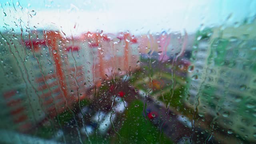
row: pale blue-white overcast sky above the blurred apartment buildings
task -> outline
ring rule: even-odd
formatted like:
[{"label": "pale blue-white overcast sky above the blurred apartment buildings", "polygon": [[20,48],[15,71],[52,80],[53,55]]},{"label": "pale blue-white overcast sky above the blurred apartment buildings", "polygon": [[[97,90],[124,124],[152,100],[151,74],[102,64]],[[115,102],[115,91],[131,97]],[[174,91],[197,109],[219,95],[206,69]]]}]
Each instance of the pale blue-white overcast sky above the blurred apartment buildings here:
[{"label": "pale blue-white overcast sky above the blurred apartment buildings", "polygon": [[88,30],[110,33],[129,30],[133,34],[144,34],[185,29],[192,33],[201,25],[232,25],[256,14],[256,0],[38,1],[20,0],[18,3],[17,0],[0,0],[3,8],[0,30],[14,28],[20,31],[21,24],[23,28],[31,29],[34,26],[61,28],[67,35]]}]

